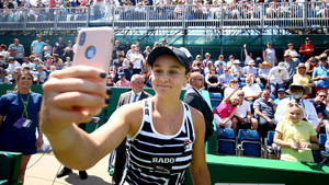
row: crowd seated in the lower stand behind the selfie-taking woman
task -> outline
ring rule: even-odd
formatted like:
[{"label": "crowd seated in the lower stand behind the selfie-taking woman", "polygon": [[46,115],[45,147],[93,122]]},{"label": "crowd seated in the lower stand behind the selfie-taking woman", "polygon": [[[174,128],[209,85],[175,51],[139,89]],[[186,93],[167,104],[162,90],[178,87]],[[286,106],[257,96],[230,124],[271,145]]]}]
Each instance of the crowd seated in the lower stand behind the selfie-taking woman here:
[{"label": "crowd seated in the lower stand behind the selfie-taking woman", "polygon": [[[299,49],[288,43],[283,61],[276,56],[272,43],[268,43],[262,56],[248,53],[243,45],[245,61],[235,56],[219,55],[212,58],[209,53],[192,54],[191,69],[204,78],[205,90],[220,93],[224,104],[213,107],[218,127],[230,127],[237,132],[241,125],[258,129],[262,137],[268,130],[274,130],[281,122],[285,103],[290,99],[300,99],[305,118],[316,129],[325,132],[324,123],[329,111],[329,50],[314,56],[316,47],[308,37]],[[109,86],[131,88],[131,77],[143,74],[146,85],[151,88],[147,57],[156,47],[171,47],[166,39],[152,46],[143,46],[137,39],[134,43],[114,42],[106,84]],[[35,84],[44,83],[49,73],[71,66],[76,45],[71,41],[58,41],[52,44],[37,36],[30,45],[30,56],[25,56],[24,46],[18,38],[9,46],[0,45],[0,82],[15,83],[21,71],[30,71]],[[257,58],[257,59],[254,59]],[[299,89],[298,89],[299,86]],[[300,88],[302,86],[302,88]],[[188,86],[186,86],[188,88]],[[290,89],[290,91],[286,91]],[[222,112],[223,111],[223,112]]]}]

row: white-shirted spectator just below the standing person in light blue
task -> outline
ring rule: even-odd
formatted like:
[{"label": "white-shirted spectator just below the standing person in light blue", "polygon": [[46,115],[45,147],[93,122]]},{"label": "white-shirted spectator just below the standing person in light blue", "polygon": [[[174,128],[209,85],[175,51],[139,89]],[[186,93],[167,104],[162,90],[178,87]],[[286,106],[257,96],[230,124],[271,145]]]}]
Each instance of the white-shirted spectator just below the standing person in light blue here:
[{"label": "white-shirted spectator just below the standing person in light blue", "polygon": [[279,66],[275,66],[270,70],[268,88],[271,88],[272,95],[276,94],[276,90],[285,88],[288,73],[284,67],[284,62],[280,62]]}]

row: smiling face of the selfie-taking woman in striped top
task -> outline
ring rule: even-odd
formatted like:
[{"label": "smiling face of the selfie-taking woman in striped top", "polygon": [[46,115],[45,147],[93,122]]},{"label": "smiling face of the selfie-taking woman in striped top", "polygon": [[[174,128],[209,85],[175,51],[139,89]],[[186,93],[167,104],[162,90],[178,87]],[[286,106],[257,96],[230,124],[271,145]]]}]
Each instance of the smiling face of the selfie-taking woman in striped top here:
[{"label": "smiling face of the selfie-taking woman in striped top", "polygon": [[188,82],[190,74],[185,74],[183,67],[173,56],[158,57],[151,68],[151,83],[159,95],[180,94],[181,88]]}]

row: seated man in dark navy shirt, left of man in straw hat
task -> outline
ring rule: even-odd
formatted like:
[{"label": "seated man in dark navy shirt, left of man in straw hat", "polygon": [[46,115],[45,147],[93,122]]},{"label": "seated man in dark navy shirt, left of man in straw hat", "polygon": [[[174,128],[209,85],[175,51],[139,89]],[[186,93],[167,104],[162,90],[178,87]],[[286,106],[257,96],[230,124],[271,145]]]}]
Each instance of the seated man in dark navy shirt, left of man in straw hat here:
[{"label": "seated man in dark navy shirt, left of man in straw hat", "polygon": [[262,96],[253,103],[254,117],[258,119],[258,130],[262,138],[266,137],[269,130],[274,130],[274,113],[276,105],[272,99],[270,99],[270,90],[265,89],[262,92]]}]

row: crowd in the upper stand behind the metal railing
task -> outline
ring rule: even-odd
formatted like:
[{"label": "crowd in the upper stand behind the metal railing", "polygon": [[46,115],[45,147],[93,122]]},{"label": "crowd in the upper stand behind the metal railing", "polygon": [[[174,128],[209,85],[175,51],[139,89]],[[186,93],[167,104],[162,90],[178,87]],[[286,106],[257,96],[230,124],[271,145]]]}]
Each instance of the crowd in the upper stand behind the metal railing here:
[{"label": "crowd in the upper stand behind the metal railing", "polygon": [[[296,3],[292,3],[296,2]],[[304,10],[308,18],[329,18],[327,0],[311,1],[304,9],[304,1],[279,0],[7,0],[1,1],[4,9],[3,22],[21,21],[23,11],[11,9],[23,8],[78,8],[91,7],[90,20],[217,20],[222,19],[282,19],[303,18]],[[154,7],[148,7],[154,5]],[[114,11],[113,9],[114,8]],[[185,13],[183,13],[185,12]],[[113,14],[114,13],[114,14]],[[84,21],[87,9],[60,9],[54,13],[50,9],[30,9],[30,21],[53,21],[58,15],[59,21]],[[147,15],[147,16],[146,16]]]}]

